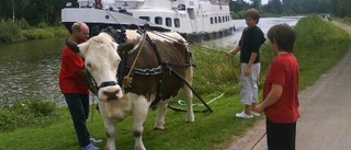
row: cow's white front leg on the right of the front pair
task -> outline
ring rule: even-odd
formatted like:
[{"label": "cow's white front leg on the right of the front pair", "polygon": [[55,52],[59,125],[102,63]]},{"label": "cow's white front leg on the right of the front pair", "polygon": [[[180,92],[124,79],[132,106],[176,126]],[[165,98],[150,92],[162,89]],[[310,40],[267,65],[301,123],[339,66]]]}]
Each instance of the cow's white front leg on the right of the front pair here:
[{"label": "cow's white front leg on the right of the front pair", "polygon": [[146,150],[143,142],[144,123],[150,103],[144,96],[138,96],[133,105],[133,136],[135,138],[135,150]]}]

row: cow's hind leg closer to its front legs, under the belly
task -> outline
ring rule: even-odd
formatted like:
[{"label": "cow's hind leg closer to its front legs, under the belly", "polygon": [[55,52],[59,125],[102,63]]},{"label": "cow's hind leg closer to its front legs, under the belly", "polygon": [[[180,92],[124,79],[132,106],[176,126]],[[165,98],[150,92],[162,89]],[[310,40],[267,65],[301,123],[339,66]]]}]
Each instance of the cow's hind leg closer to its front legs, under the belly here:
[{"label": "cow's hind leg closer to its front legs, under the belly", "polygon": [[165,115],[166,115],[167,104],[168,104],[168,101],[162,101],[162,100],[157,104],[157,117],[154,125],[154,129],[156,130],[165,129]]}]

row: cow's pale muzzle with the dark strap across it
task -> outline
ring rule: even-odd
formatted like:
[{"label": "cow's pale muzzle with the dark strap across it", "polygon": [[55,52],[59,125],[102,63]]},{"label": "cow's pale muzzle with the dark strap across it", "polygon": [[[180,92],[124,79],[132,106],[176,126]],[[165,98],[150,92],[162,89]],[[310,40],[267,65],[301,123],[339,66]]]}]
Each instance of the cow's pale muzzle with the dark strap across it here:
[{"label": "cow's pale muzzle with the dark strap across it", "polygon": [[121,86],[115,81],[102,82],[99,86],[99,100],[113,101],[123,96]]}]

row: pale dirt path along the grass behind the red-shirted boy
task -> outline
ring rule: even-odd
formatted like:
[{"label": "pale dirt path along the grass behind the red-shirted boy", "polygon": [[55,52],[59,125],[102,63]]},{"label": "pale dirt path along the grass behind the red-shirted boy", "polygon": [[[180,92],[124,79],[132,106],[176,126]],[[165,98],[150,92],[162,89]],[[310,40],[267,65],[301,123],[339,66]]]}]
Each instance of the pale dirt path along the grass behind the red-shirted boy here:
[{"label": "pale dirt path along the grass behind the red-shirted boy", "polygon": [[[351,35],[351,26],[333,22]],[[351,46],[346,56],[299,93],[296,150],[351,149]],[[265,119],[226,150],[267,150]]]}]

